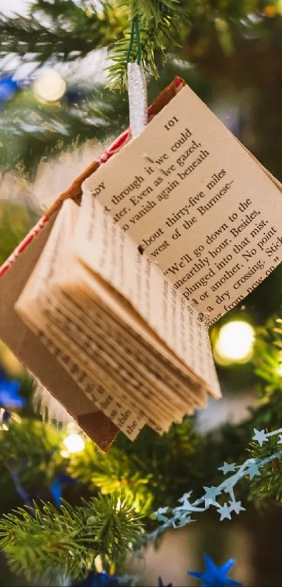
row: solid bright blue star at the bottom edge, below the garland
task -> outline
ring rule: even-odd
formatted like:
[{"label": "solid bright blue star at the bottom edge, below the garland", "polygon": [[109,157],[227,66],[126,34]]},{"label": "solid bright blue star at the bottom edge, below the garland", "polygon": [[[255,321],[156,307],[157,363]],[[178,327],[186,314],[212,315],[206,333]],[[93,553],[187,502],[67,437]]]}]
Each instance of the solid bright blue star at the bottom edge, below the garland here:
[{"label": "solid bright blue star at the bottom edge, below the garland", "polygon": [[233,567],[235,560],[234,558],[230,558],[227,560],[226,563],[217,567],[215,563],[213,563],[212,558],[208,554],[204,554],[204,563],[205,563],[205,570],[204,572],[195,572],[189,571],[188,574],[191,577],[195,577],[202,581],[202,587],[227,587],[227,586],[241,586],[241,583],[238,581],[233,581],[230,577],[227,577],[230,569]]}]

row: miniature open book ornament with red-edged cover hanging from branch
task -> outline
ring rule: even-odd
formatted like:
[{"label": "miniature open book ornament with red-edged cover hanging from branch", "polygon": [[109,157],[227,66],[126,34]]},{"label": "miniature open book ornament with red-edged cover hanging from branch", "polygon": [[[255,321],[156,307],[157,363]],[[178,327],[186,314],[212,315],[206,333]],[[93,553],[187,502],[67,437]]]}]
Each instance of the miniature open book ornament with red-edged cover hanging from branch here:
[{"label": "miniature open book ornament with red-edged cover hanging from branch", "polygon": [[281,184],[180,78],[148,120],[0,269],[0,337],[104,449],[220,397],[209,325],[282,259]]}]

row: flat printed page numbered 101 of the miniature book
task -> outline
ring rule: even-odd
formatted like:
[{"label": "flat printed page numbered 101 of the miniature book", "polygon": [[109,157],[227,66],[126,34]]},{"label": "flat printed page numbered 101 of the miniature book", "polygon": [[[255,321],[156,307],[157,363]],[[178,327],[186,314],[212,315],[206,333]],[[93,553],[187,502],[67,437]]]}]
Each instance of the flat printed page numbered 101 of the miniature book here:
[{"label": "flat printed page numbered 101 of the miniature book", "polygon": [[83,191],[208,325],[281,262],[279,182],[188,86]]}]

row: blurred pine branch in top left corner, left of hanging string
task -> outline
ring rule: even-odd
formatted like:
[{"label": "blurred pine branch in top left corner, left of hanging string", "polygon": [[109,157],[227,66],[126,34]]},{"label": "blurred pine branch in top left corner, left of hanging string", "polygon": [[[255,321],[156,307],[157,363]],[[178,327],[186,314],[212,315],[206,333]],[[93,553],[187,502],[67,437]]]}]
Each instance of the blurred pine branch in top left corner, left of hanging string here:
[{"label": "blurred pine branch in top left corner, left of hanging string", "polygon": [[37,0],[27,17],[0,15],[0,57],[13,53],[22,62],[40,64],[56,57],[66,61],[85,57],[111,45],[125,28],[122,10],[104,3],[99,13],[92,5],[84,10],[73,0]]}]

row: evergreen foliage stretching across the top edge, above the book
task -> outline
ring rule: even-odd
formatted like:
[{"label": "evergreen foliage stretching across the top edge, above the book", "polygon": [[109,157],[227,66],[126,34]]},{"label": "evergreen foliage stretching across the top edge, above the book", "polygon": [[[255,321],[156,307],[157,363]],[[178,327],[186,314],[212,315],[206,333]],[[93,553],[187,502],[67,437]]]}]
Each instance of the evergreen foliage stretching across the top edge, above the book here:
[{"label": "evergreen foliage stretching across the top edge, above the book", "polygon": [[[140,20],[142,59],[157,73],[167,48],[188,45],[187,57],[200,57],[218,50],[230,54],[238,35],[263,34],[265,18],[281,14],[279,0],[104,0],[99,8],[80,0],[36,0],[27,17],[0,19],[0,57],[13,54],[20,62],[40,65],[74,61],[97,48],[106,47],[116,59],[111,70],[115,86],[125,83],[126,55],[131,20]],[[253,19],[252,16],[256,18]],[[20,42],[19,42],[20,41]],[[132,52],[134,58],[134,51]]]}]

